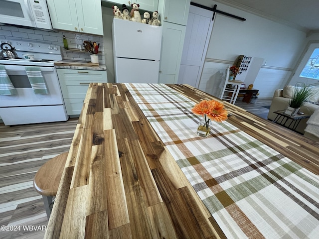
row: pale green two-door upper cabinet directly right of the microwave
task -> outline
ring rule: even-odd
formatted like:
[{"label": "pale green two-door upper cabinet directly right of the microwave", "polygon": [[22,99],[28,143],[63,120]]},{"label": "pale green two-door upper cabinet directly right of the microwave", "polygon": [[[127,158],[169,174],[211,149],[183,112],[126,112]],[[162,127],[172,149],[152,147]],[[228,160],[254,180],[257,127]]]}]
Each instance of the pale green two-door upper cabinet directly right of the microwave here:
[{"label": "pale green two-door upper cabinet directly right of the microwave", "polygon": [[103,35],[100,0],[47,0],[53,28]]}]

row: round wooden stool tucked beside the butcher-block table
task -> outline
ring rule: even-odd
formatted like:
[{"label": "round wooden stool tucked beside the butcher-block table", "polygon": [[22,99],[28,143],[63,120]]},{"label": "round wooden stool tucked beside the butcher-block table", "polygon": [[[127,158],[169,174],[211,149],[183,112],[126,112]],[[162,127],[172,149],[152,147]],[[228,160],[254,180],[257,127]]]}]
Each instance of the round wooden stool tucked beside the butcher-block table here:
[{"label": "round wooden stool tucked beside the butcher-block table", "polygon": [[46,216],[50,218],[53,197],[56,196],[68,152],[50,159],[36,172],[33,180],[35,191],[42,195]]}]

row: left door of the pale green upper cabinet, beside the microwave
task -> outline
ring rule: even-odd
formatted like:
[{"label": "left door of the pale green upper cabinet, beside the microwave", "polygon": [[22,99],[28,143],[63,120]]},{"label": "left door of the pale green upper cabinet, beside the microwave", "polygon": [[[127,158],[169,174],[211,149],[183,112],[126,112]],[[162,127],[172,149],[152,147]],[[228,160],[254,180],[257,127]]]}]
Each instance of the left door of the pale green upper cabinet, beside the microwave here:
[{"label": "left door of the pale green upper cabinet, beside the microwave", "polygon": [[53,28],[78,31],[78,19],[74,0],[47,0]]}]

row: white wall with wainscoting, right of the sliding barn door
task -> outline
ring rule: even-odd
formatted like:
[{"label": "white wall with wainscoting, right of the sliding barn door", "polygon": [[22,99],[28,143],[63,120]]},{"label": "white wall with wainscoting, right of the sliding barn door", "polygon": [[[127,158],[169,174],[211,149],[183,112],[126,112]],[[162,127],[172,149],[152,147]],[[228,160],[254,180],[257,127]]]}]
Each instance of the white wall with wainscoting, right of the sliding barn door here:
[{"label": "white wall with wainscoting, right of the sliding barn door", "polygon": [[209,7],[217,4],[218,10],[246,18],[215,15],[199,89],[218,97],[224,80],[222,69],[232,65],[238,55],[248,55],[265,59],[254,88],[259,89],[260,98],[272,98],[275,89],[288,82],[308,41],[306,32],[216,1],[192,1]]}]

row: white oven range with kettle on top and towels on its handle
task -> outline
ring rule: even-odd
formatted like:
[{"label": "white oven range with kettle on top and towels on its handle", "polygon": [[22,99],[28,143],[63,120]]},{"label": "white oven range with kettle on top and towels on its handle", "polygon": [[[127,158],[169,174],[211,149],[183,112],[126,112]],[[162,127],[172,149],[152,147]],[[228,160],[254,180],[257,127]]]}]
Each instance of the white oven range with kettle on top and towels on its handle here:
[{"label": "white oven range with kettle on top and towels on its handle", "polygon": [[[19,59],[0,59],[0,65],[10,79],[16,94],[0,95],[0,117],[5,125],[65,121],[66,114],[62,92],[54,62],[60,60],[59,46],[52,53],[47,43],[11,40]],[[32,46],[31,46],[32,45]],[[30,47],[31,46],[31,47]],[[51,48],[51,47],[50,47]],[[23,59],[26,49],[32,50],[33,60]],[[22,51],[23,50],[23,51]],[[43,77],[47,94],[35,94],[26,74],[26,66],[38,67]]]}]

